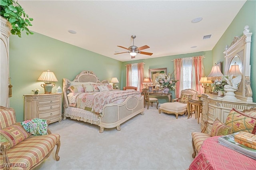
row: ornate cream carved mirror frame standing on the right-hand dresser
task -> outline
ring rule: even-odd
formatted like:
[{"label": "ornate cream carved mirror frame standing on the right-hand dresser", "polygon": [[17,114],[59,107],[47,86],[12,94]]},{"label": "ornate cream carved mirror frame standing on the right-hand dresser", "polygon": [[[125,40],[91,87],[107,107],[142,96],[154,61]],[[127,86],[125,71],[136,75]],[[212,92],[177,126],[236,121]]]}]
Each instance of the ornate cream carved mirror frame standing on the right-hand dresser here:
[{"label": "ornate cream carved mirror frame standing on the right-hand dresser", "polygon": [[251,36],[248,26],[244,27],[244,35],[241,37],[234,37],[230,47],[226,45],[225,55],[225,75],[228,75],[230,63],[235,56],[238,56],[242,61],[242,81],[235,92],[236,98],[252,102],[252,89],[250,81],[250,49],[251,49]]}]

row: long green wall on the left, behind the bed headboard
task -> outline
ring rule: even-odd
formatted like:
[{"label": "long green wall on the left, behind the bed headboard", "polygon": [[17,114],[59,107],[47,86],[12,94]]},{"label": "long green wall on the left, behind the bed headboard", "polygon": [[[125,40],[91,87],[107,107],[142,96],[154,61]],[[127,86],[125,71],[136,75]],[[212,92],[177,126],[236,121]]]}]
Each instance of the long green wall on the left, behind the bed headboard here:
[{"label": "long green wall on the left, behind the bed headboard", "polygon": [[23,121],[24,94],[33,94],[43,82],[37,81],[43,71],[50,70],[58,82],[52,92],[60,86],[63,78],[73,80],[83,70],[94,71],[100,80],[121,79],[122,62],[106,57],[42,34],[10,36],[10,77],[12,97],[10,107],[15,109],[17,121]]}]

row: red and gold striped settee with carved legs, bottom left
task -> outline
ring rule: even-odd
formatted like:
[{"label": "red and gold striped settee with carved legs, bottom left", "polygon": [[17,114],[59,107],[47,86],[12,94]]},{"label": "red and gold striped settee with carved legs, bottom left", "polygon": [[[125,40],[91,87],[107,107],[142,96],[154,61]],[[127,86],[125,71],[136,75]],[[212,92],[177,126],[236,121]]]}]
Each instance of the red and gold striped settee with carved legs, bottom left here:
[{"label": "red and gold striped settee with carved legs, bottom left", "polygon": [[[0,119],[1,169],[30,170],[35,168],[50,156],[55,145],[57,146],[55,158],[57,161],[60,160],[58,156],[60,150],[59,134],[52,134],[48,129],[46,135],[32,136],[25,131],[20,123],[16,123],[15,111],[12,108],[1,106]],[[8,132],[10,133],[8,134]],[[4,136],[8,136],[7,138],[12,141],[4,142]]]}]

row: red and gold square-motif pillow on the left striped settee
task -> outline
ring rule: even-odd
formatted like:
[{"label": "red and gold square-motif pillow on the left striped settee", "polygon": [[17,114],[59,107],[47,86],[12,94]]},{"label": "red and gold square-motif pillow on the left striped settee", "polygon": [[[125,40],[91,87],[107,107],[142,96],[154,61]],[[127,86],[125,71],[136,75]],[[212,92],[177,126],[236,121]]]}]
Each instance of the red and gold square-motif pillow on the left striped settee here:
[{"label": "red and gold square-motif pillow on the left striped settee", "polygon": [[15,123],[0,130],[0,143],[9,142],[10,147],[8,149],[30,137],[32,137],[32,135],[28,133],[20,123]]}]

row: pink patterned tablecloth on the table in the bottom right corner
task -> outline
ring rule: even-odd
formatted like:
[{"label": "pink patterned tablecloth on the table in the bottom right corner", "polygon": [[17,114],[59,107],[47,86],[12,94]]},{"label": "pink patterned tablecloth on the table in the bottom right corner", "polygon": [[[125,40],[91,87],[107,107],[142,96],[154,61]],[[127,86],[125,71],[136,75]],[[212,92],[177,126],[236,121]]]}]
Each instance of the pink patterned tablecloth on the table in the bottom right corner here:
[{"label": "pink patterned tablecloth on the table in the bottom right corner", "polygon": [[189,170],[256,170],[256,160],[222,146],[218,137],[203,142]]}]

